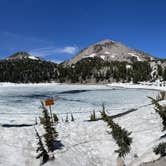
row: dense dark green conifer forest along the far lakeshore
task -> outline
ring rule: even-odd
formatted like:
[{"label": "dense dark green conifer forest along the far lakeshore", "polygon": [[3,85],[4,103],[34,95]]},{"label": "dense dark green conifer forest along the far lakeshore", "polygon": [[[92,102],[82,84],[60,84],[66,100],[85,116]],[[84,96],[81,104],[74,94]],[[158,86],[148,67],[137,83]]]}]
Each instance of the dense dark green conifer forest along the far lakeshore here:
[{"label": "dense dark green conifer forest along the far lakeshore", "polygon": [[[0,61],[0,82],[14,83],[109,83],[151,80],[149,62],[104,61],[101,58],[86,58],[71,66],[43,60]],[[158,67],[158,77],[166,80],[166,68]]]}]

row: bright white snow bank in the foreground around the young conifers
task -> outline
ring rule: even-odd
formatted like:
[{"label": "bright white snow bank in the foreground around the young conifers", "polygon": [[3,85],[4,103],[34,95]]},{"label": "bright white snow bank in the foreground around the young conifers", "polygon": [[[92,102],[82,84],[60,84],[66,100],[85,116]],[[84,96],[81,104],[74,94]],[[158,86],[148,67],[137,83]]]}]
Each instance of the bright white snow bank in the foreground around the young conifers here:
[{"label": "bright white snow bank in the foreground around the young conifers", "polygon": [[[86,120],[86,119],[84,119]],[[107,133],[108,127],[103,121],[60,122],[58,125],[59,139],[64,147],[55,152],[55,160],[46,165],[59,166],[116,166],[117,145]],[[117,118],[121,126],[132,131],[133,144],[131,153],[126,157],[128,165],[139,165],[156,159],[152,148],[159,142],[162,126],[160,118],[152,106],[146,106],[134,113]],[[34,128],[2,128],[1,164],[12,166],[38,165],[35,159]],[[17,133],[17,134],[16,134]],[[14,139],[13,139],[14,138]],[[138,156],[138,157],[135,157]],[[17,162],[19,161],[19,162]]]}]

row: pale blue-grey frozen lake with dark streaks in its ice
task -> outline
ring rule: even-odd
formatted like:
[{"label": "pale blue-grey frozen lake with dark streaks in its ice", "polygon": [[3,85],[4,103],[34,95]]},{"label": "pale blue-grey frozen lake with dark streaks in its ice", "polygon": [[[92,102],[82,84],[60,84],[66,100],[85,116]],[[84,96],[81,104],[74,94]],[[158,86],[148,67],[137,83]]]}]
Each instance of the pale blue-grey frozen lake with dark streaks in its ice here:
[{"label": "pale blue-grey frozen lake with dark streaks in its ice", "polygon": [[113,89],[106,85],[16,85],[0,86],[0,124],[33,123],[41,114],[40,102],[54,98],[53,110],[58,114],[73,112],[75,116],[101,110],[104,103],[111,114],[125,112],[150,103],[147,96],[157,91]]}]

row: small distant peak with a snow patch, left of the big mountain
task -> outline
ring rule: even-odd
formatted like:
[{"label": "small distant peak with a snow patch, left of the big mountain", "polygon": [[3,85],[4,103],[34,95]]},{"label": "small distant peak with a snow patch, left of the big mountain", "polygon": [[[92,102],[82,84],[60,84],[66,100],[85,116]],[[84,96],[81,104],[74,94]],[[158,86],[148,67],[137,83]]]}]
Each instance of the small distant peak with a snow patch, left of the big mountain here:
[{"label": "small distant peak with a snow patch, left of the big mountain", "polygon": [[23,60],[23,59],[40,60],[39,57],[32,56],[27,52],[17,52],[6,59],[7,60]]}]

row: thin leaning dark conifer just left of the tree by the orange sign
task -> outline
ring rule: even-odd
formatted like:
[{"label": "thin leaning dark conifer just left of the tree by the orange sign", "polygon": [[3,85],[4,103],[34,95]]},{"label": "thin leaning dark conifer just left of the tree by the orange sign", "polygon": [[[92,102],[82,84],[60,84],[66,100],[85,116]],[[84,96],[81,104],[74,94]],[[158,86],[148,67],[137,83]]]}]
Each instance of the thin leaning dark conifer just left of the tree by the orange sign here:
[{"label": "thin leaning dark conifer just left of the tree by the orange sign", "polygon": [[36,149],[36,152],[37,152],[37,153],[40,152],[40,153],[37,155],[36,158],[38,159],[38,158],[41,158],[41,157],[42,157],[42,164],[44,164],[44,163],[46,163],[46,162],[49,160],[49,155],[48,155],[46,149],[44,148],[42,139],[41,139],[41,137],[40,137],[40,135],[39,135],[39,133],[38,133],[38,131],[37,131],[36,129],[35,129],[35,133],[36,133],[36,137],[37,137],[37,139],[38,139],[38,143],[37,143],[38,147],[37,147],[37,149]]}]

